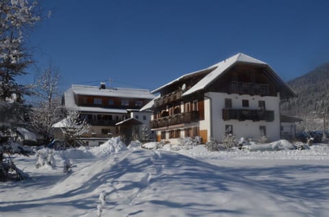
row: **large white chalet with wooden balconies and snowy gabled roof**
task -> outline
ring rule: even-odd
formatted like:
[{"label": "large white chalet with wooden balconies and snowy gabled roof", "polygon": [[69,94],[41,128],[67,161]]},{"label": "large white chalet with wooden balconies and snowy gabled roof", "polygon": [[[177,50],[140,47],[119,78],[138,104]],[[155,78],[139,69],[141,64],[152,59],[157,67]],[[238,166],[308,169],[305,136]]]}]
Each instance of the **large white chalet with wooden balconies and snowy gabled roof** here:
[{"label": "large white chalet with wooden balconies and snowy gabled roof", "polygon": [[204,70],[184,74],[151,91],[160,93],[151,128],[158,141],[200,136],[221,141],[226,134],[269,141],[280,139],[280,100],[295,96],[271,67],[238,53]]}]

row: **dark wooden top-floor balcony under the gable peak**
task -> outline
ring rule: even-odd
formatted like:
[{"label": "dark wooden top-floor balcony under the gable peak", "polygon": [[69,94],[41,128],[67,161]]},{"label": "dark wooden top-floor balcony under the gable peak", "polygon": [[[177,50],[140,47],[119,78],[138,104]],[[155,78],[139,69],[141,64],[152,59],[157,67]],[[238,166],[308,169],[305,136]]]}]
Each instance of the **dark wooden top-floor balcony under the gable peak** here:
[{"label": "dark wooden top-floor balcony under the gable peak", "polygon": [[245,83],[231,81],[229,84],[230,93],[248,94],[248,95],[260,95],[269,96],[269,85],[256,84],[256,83]]}]

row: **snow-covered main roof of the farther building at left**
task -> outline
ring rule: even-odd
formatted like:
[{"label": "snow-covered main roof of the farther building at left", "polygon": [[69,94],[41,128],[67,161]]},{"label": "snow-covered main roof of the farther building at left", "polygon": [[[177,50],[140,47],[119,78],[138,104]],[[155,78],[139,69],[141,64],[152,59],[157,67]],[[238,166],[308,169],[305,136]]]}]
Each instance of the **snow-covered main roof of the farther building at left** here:
[{"label": "snow-covered main roof of the farther building at left", "polygon": [[112,96],[122,98],[145,98],[153,99],[154,95],[148,89],[132,89],[132,88],[106,88],[100,89],[96,86],[88,85],[72,85],[71,91],[77,95],[84,96]]}]

